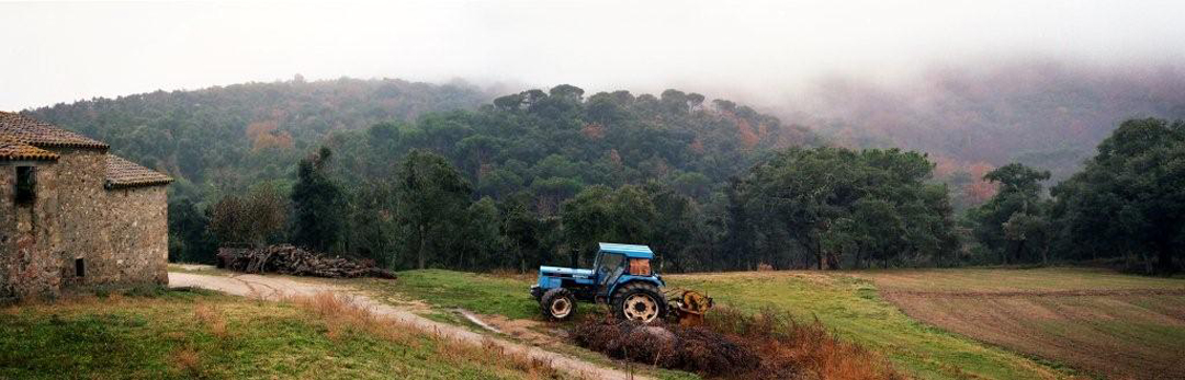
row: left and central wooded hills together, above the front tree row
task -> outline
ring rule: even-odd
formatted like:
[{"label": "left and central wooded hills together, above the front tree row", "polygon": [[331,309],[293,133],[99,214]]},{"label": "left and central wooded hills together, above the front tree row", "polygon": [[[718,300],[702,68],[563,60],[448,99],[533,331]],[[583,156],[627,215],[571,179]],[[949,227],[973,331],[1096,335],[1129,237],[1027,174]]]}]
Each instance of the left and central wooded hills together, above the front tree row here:
[{"label": "left and central wooded hills together, above the front tree row", "polygon": [[495,98],[462,84],[297,78],[26,114],[117,142],[120,154],[177,176],[182,194],[290,179],[296,162],[324,144],[342,152],[339,165],[352,175],[428,149],[465,168],[486,194],[545,188],[556,205],[585,185],[647,179],[706,197],[771,149],[819,143],[802,127],[726,99],[678,90],[585,96],[572,85]]}]

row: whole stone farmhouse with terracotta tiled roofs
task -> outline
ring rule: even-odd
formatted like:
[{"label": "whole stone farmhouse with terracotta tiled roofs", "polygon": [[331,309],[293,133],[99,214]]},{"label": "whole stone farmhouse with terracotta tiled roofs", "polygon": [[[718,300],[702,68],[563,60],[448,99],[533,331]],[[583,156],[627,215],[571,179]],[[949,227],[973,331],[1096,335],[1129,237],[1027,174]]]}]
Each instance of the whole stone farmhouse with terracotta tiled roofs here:
[{"label": "whole stone farmhouse with terracotta tiled roofs", "polygon": [[172,179],[0,111],[0,300],[166,284]]}]

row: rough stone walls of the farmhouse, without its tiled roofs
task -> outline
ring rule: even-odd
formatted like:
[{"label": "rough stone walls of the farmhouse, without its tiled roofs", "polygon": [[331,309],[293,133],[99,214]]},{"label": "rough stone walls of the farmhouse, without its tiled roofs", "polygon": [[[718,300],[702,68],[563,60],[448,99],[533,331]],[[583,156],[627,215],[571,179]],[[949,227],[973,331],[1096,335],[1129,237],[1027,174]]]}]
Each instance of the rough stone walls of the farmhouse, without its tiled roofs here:
[{"label": "rough stone walls of the farmhouse, without its tiled roofs", "polygon": [[105,189],[103,152],[52,150],[56,163],[36,163],[31,206],[14,201],[15,166],[30,163],[0,162],[0,298],[167,283],[166,187]]}]

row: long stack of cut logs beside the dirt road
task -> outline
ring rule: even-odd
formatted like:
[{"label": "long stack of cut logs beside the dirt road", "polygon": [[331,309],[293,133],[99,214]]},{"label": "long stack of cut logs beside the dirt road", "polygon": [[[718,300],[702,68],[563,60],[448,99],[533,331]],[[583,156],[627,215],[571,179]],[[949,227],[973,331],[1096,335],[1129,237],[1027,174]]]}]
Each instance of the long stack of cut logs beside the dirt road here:
[{"label": "long stack of cut logs beside the dirt road", "polygon": [[395,272],[376,268],[372,263],[329,257],[287,244],[220,252],[218,262],[225,269],[246,273],[268,272],[329,278],[396,278]]}]

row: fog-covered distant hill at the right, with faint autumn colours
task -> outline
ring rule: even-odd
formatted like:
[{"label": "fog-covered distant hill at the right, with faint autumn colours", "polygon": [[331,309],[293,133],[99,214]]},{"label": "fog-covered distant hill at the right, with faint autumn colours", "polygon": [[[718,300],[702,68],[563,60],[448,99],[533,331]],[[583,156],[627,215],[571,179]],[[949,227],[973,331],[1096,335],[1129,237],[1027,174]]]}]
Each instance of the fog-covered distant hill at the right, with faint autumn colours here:
[{"label": "fog-covered distant hill at the right, with faint autumn colours", "polygon": [[787,117],[848,147],[924,150],[939,165],[1021,162],[1065,178],[1129,118],[1185,117],[1185,71],[1053,60],[959,65],[896,84],[820,82]]}]

